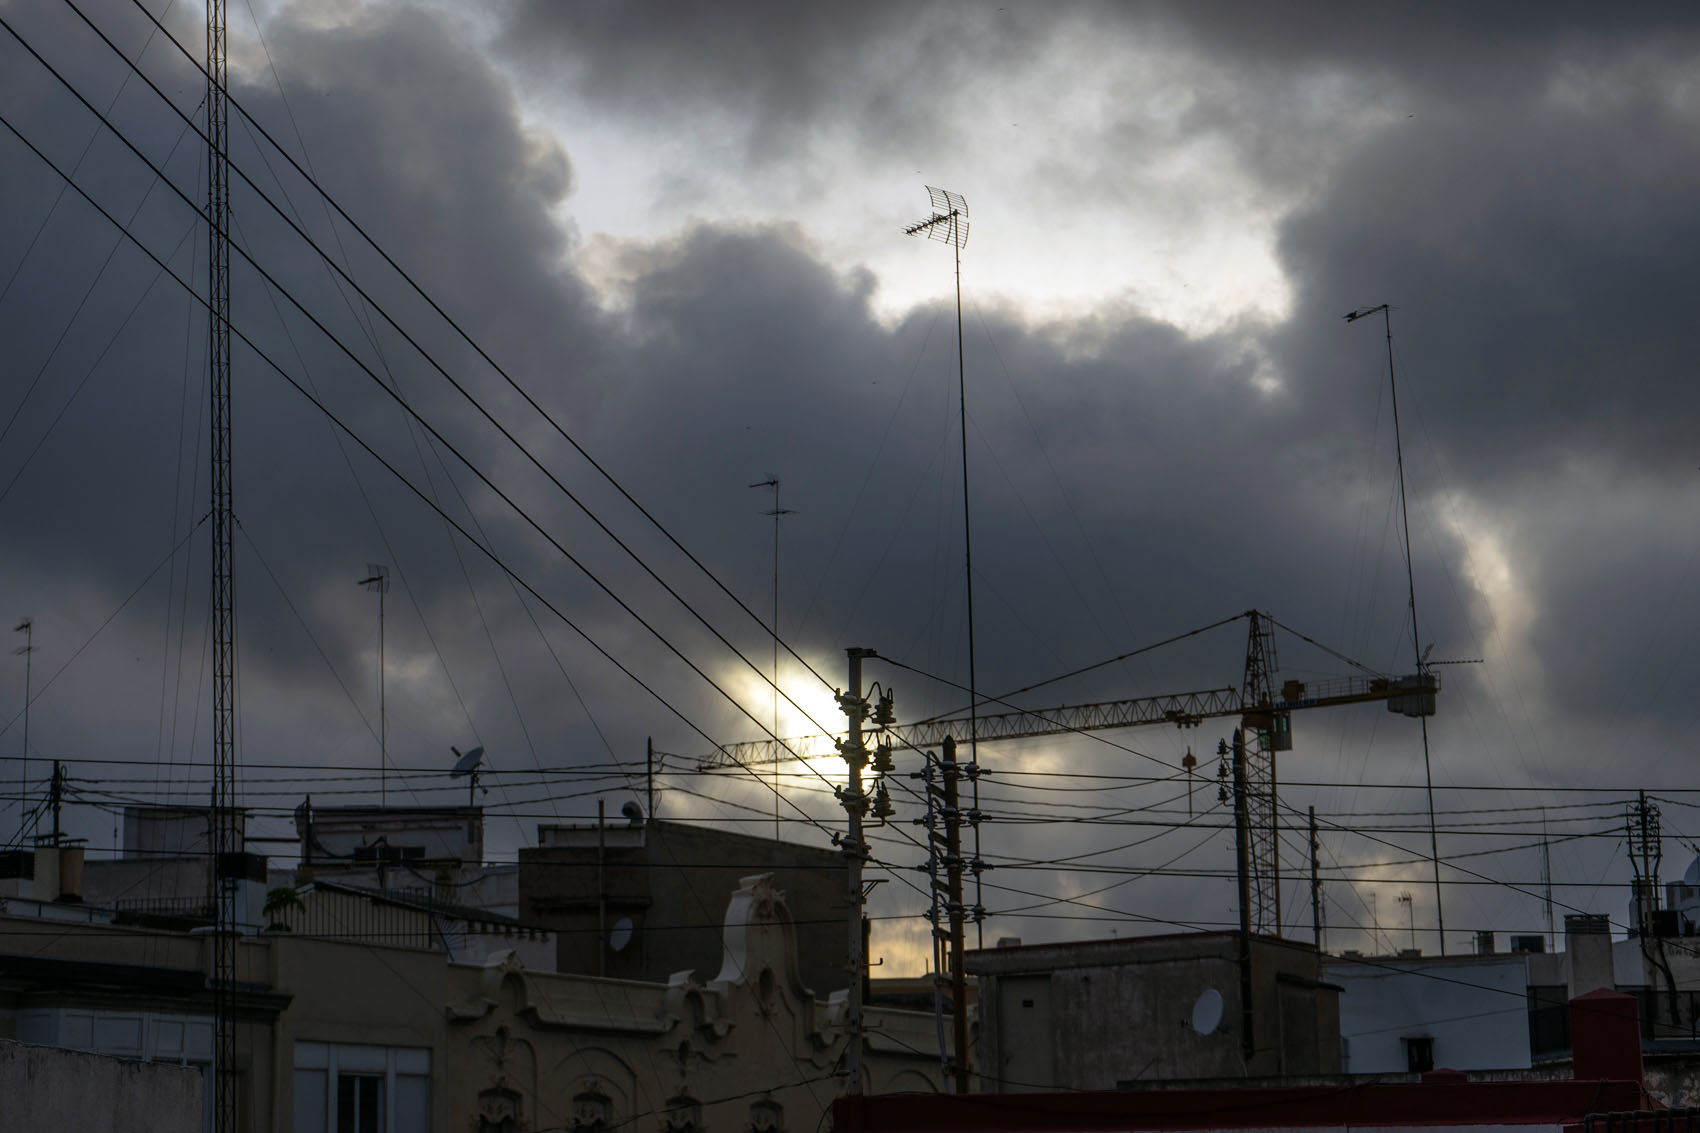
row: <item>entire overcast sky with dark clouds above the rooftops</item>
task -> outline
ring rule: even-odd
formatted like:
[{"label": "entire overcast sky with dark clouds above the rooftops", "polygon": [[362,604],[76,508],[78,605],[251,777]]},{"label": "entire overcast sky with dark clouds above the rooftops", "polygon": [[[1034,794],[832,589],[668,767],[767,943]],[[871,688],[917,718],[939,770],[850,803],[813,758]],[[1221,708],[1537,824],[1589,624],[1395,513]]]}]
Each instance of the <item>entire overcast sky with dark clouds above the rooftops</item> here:
[{"label": "entire overcast sky with dark clouds above the rooftops", "polygon": [[[199,56],[201,10],[148,7]],[[196,117],[202,80],[139,9],[83,9],[170,102],[71,7],[0,2],[15,29],[0,36],[0,116],[44,155],[0,131],[0,612],[34,619],[34,796],[44,760],[63,759],[87,798],[197,798],[206,315],[46,160],[202,289],[204,236],[170,187],[206,192],[202,143],[177,116]],[[617,811],[641,791],[648,737],[695,755],[762,735],[770,638],[566,436],[762,618],[774,497],[746,485],[777,476],[787,645],[833,686],[850,645],[966,684],[952,257],[903,235],[942,185],[972,225],[983,691],[1253,607],[1411,670],[1387,344],[1379,316],[1341,320],[1391,303],[1416,645],[1481,662],[1436,670],[1440,849],[1499,851],[1445,866],[1448,949],[1474,929],[1545,929],[1544,817],[1559,917],[1624,919],[1618,835],[1639,788],[1663,800],[1664,876],[1690,861],[1688,7],[306,0],[233,5],[230,22],[233,95],[299,163],[233,109],[235,242],[258,264],[233,257],[238,749],[257,830],[289,832],[303,788],[267,781],[284,767],[335,769],[311,786],[321,805],[372,796],[377,597],[355,585],[369,563],[394,577],[389,762],[447,767],[450,745],[486,745],[498,856],[537,822],[593,818],[598,796]],[[22,643],[7,638],[0,667],[8,837]],[[1350,672],[1290,635],[1278,648],[1285,677]],[[1238,686],[1243,655],[1232,623],[1018,699]],[[867,672],[896,689],[899,720],[960,701],[910,670]],[[797,704],[780,732],[814,732],[804,713],[836,725],[802,663],[780,679]],[[1231,725],[986,745],[998,818],[983,851],[1006,866],[988,874],[988,942],[1231,924],[1214,779]],[[1294,732],[1284,822],[1323,815],[1329,944],[1404,946],[1414,922],[1431,949],[1416,723],[1358,706],[1300,713]],[[1204,815],[1190,827],[1168,828],[1187,820],[1185,779],[1074,777],[1175,776],[1188,745]],[[615,760],[636,777],[537,786],[541,769]],[[842,764],[818,771],[836,781]],[[826,844],[801,815],[842,823],[828,784],[797,767],[782,783],[785,837]],[[921,857],[906,783],[876,845],[904,868]],[[389,786],[462,798],[422,774]],[[753,822],[772,794],[748,777],[660,786],[663,817],[772,830]],[[1047,820],[1061,815],[1100,822]],[[110,813],[71,822],[110,845]],[[1304,845],[1284,835],[1294,878]],[[1224,876],[1020,868],[1112,847],[1080,864]],[[899,917],[920,907],[916,874],[892,876],[876,951],[918,970],[925,924]],[[1306,893],[1289,885],[1284,905],[1307,939]]]}]

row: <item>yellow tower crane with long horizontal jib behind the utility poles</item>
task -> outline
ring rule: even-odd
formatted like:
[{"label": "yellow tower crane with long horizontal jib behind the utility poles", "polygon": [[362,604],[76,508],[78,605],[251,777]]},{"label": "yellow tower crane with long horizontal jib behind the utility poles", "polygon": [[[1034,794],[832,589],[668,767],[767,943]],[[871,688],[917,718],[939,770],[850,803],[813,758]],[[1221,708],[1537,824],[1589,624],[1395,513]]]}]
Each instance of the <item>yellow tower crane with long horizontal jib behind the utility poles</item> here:
[{"label": "yellow tower crane with long horizontal jib behind the utility poles", "polygon": [[[1243,618],[1250,623],[1250,629],[1246,635],[1246,663],[1239,687],[1139,696],[1091,704],[1062,704],[1046,709],[976,713],[976,735],[981,742],[993,742],[1159,723],[1195,728],[1205,720],[1238,716],[1246,745],[1244,834],[1251,851],[1248,878],[1251,924],[1256,932],[1280,936],[1280,842],[1275,757],[1280,752],[1292,750],[1292,713],[1309,708],[1380,701],[1387,704],[1387,711],[1399,713],[1401,716],[1433,716],[1440,677],[1426,663],[1418,672],[1402,677],[1379,674],[1367,665],[1336,653],[1336,657],[1341,657],[1341,660],[1360,672],[1323,680],[1284,680],[1277,694],[1277,623],[1270,614],[1260,611],[1246,611]],[[962,740],[966,732],[967,718],[952,715],[913,725],[891,725],[884,738],[891,742],[892,749],[923,750],[944,743],[945,737]],[[835,737],[811,735],[794,740],[728,743],[714,754],[699,759],[697,766],[700,771],[719,771],[784,762],[789,759],[823,759],[836,754]]]}]

